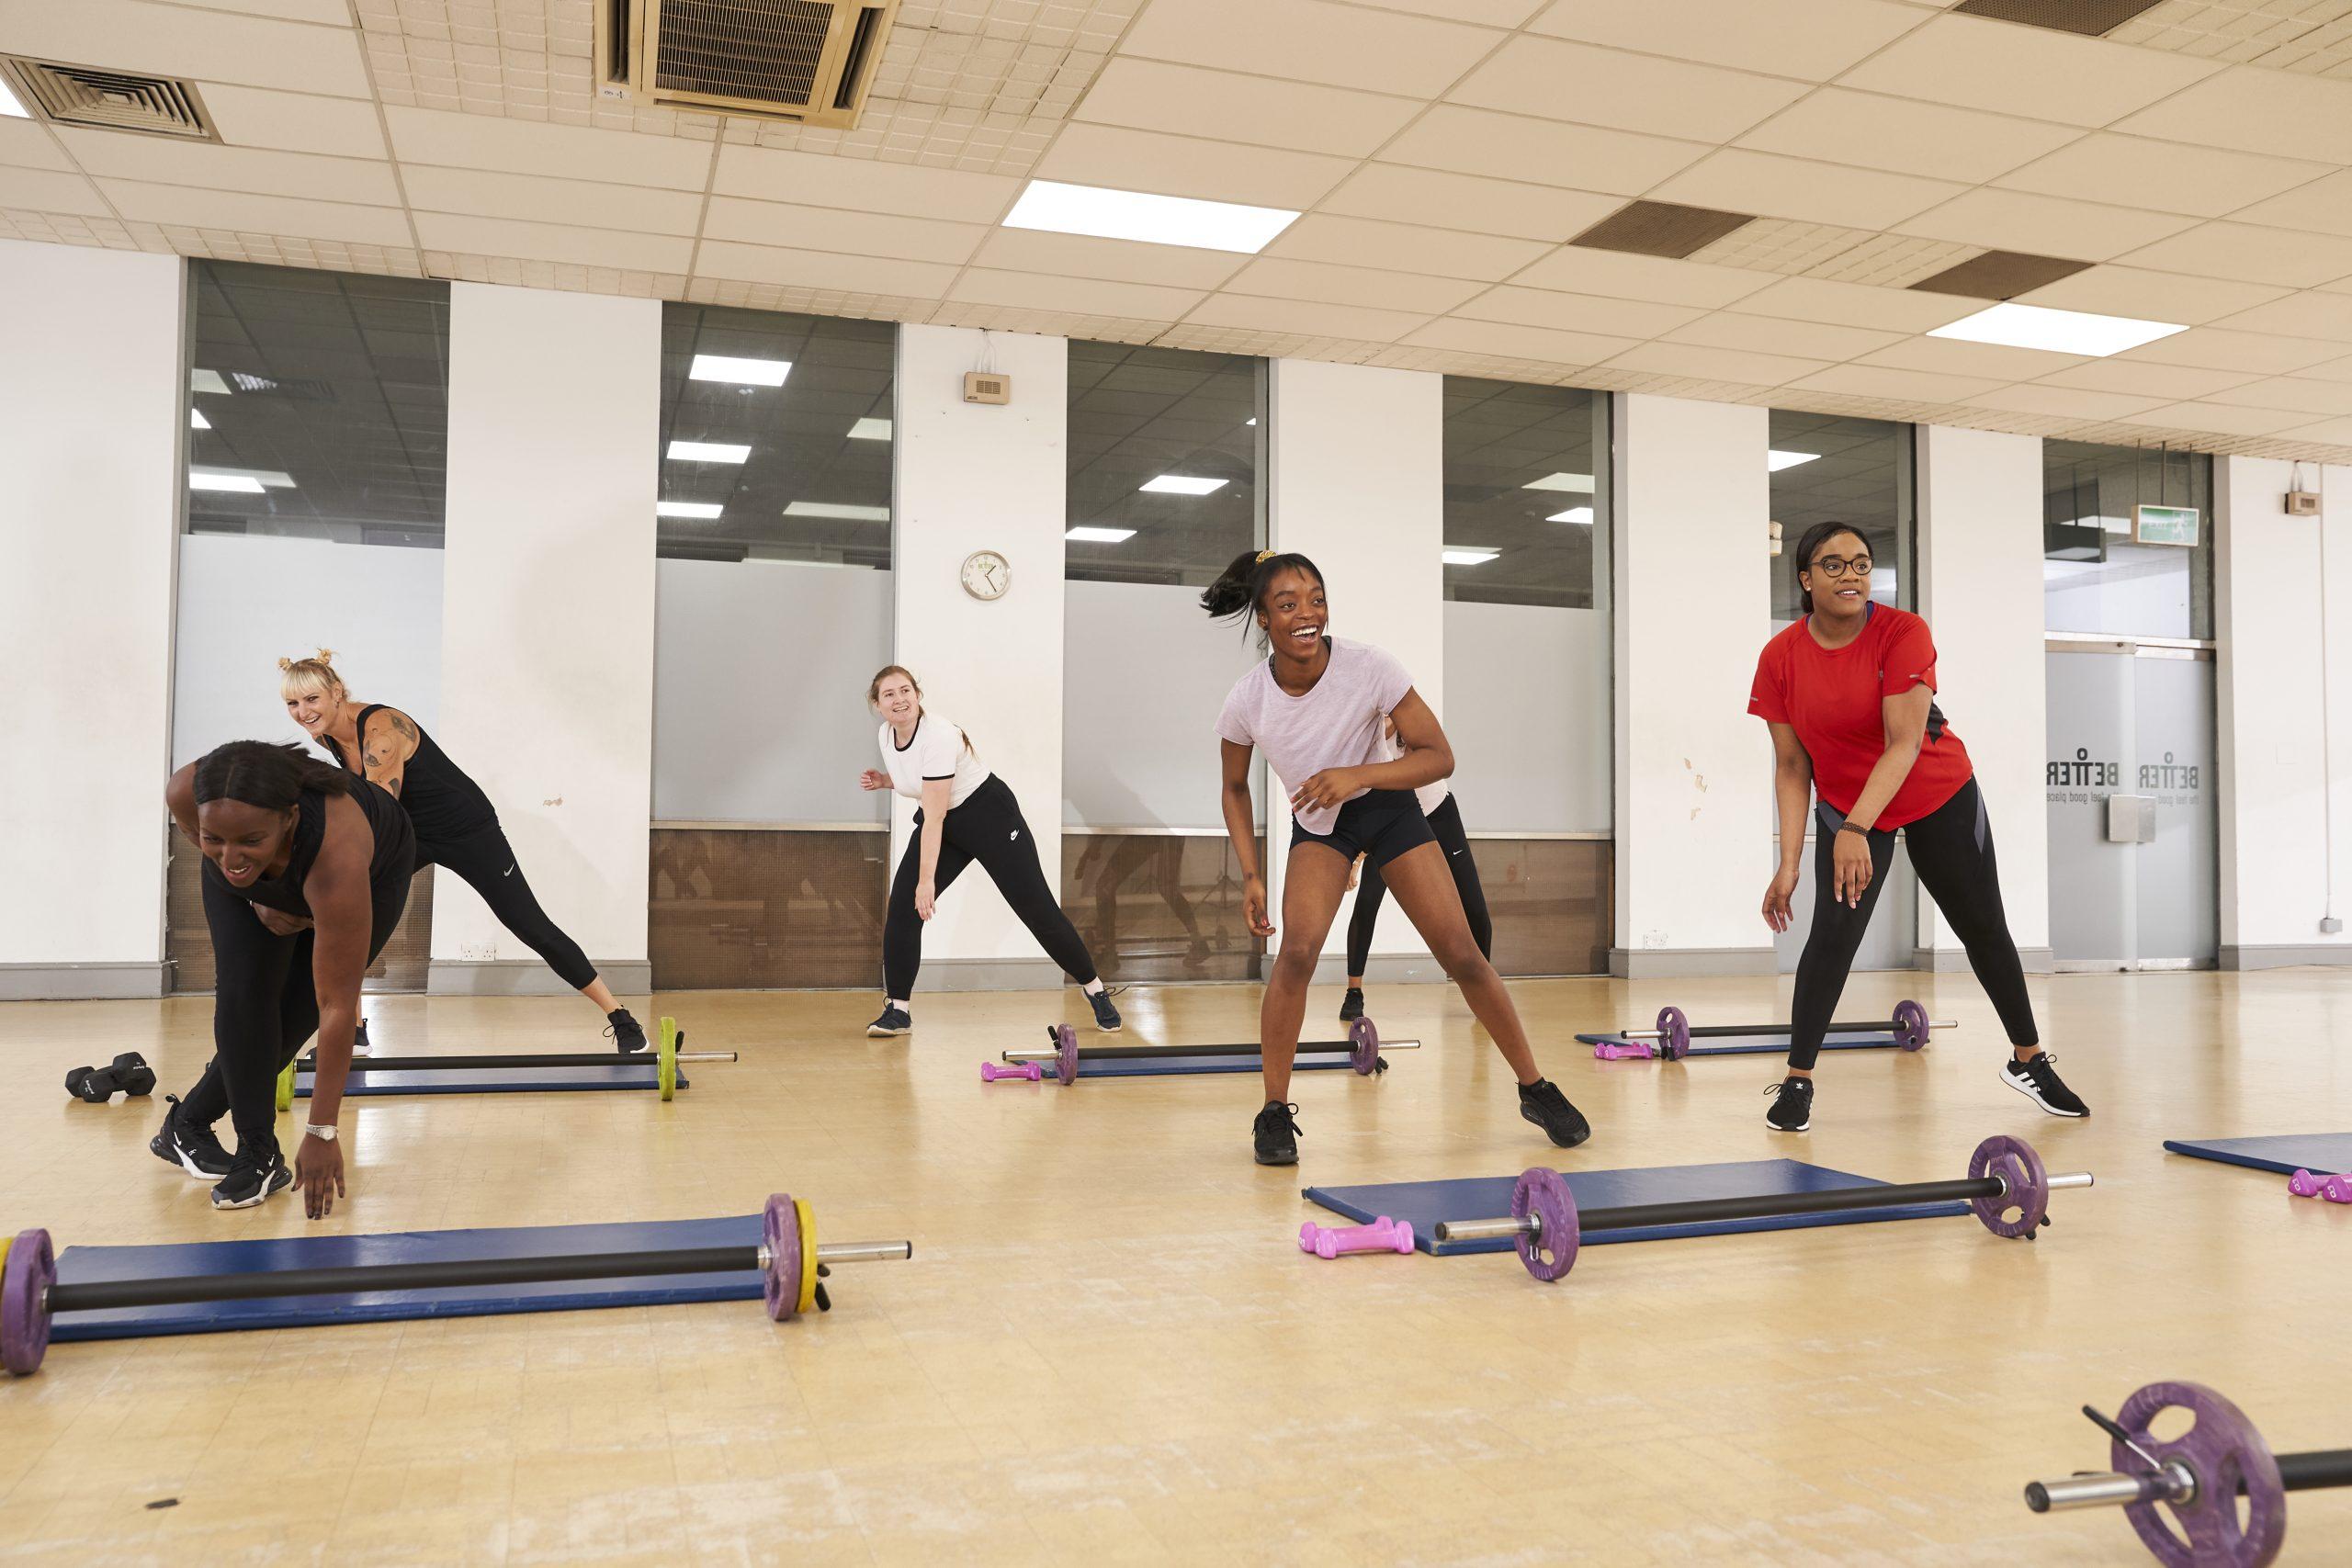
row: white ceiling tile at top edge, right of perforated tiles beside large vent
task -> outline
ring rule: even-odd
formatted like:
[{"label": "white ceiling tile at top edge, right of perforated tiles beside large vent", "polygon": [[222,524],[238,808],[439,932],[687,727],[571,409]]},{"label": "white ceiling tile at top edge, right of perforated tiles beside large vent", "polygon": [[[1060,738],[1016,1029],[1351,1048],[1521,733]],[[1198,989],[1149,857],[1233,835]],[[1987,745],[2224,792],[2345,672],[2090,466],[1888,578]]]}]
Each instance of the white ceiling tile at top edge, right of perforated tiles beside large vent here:
[{"label": "white ceiling tile at top edge, right of perforated tiles beside large vent", "polygon": [[1152,0],[1120,54],[1216,68],[1242,49],[1263,75],[1435,99],[1494,45],[1486,28],[1324,0]]}]

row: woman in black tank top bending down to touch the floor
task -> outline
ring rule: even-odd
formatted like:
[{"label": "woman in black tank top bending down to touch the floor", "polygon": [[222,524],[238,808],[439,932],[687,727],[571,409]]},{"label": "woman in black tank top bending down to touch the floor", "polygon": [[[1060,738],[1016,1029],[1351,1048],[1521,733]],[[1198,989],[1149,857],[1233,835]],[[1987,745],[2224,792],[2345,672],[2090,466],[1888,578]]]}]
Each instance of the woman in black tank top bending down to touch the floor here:
[{"label": "woman in black tank top bending down to touch the floor", "polygon": [[[172,820],[205,865],[205,924],[216,966],[212,1063],[186,1100],[165,1100],[148,1145],[214,1180],[214,1208],[252,1208],[299,1182],[318,1220],[343,1192],[336,1117],[360,978],[407,905],[416,839],[400,802],[303,757],[294,745],[230,741],[165,790]],[[318,1034],[308,1128],[294,1168],[278,1150],[278,1074]],[[212,1124],[230,1117],[238,1152]]]}]

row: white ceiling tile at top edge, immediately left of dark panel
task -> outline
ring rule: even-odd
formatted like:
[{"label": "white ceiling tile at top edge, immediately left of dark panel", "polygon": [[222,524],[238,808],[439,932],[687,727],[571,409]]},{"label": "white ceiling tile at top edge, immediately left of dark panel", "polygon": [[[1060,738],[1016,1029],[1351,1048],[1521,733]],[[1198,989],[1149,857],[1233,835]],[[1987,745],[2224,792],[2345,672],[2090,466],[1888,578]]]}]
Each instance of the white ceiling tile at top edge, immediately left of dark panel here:
[{"label": "white ceiling tile at top edge, immediately left of dark panel", "polygon": [[1529,31],[1825,82],[1922,21],[1882,0],[1559,0]]}]

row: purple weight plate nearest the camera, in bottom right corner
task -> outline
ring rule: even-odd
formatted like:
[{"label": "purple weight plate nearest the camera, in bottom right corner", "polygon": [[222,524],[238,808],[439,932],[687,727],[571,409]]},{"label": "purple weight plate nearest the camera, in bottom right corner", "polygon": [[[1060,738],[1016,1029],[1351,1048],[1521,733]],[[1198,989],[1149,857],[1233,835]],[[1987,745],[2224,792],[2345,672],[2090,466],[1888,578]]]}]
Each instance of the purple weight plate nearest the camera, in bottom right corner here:
[{"label": "purple weight plate nearest the camera, in bottom right corner", "polygon": [[[2169,1443],[2147,1427],[2169,1408],[2187,1410],[2197,1425]],[[2190,1502],[2133,1502],[2124,1519],[2159,1563],[2169,1568],[2265,1568],[2286,1542],[2286,1483],[2270,1443],[2246,1413],[2201,1382],[2150,1382],[2124,1401],[2117,1425],[2159,1465],[2180,1462],[2197,1476]],[[2122,1472],[2147,1465],[2124,1443],[2110,1443],[2110,1462]],[[2246,1523],[2237,1519],[2237,1490],[2246,1488]],[[2166,1523],[2169,1519],[2169,1523]]]}]

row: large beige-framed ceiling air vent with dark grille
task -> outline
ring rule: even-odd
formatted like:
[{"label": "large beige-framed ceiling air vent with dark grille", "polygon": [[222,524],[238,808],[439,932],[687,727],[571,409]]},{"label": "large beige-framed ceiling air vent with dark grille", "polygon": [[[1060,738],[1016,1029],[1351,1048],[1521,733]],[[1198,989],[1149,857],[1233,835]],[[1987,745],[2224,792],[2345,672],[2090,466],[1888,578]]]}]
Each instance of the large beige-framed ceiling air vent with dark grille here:
[{"label": "large beige-framed ceiling air vent with dark grille", "polygon": [[600,94],[856,125],[898,0],[597,0]]}]

